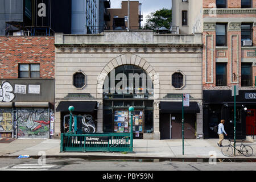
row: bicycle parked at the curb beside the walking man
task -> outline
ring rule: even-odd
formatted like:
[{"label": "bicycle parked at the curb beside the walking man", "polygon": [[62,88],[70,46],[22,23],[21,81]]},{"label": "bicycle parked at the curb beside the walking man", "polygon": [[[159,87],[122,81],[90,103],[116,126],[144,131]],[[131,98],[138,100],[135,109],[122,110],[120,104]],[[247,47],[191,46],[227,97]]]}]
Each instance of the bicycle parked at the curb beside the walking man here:
[{"label": "bicycle parked at the curb beside the walking man", "polygon": [[228,146],[224,146],[221,148],[221,152],[224,156],[231,156],[233,154],[233,148],[234,150],[238,151],[238,154],[243,154],[244,156],[247,156],[247,157],[253,155],[253,148],[251,148],[251,146],[245,146],[243,144],[243,140],[241,141],[240,149],[235,148],[234,144],[231,144],[232,140],[229,140],[229,141],[230,142]]}]

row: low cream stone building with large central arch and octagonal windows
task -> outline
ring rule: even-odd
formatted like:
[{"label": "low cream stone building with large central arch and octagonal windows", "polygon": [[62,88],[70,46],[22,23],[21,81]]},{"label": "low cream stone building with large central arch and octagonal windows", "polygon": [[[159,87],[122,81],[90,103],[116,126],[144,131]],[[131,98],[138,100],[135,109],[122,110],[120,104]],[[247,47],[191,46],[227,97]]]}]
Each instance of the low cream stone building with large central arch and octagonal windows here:
[{"label": "low cream stone building with large central arch and octagonal windows", "polygon": [[135,138],[181,138],[182,93],[185,138],[203,137],[201,34],[56,34],[55,46],[55,137],[72,105],[84,132],[129,132],[134,106]]}]

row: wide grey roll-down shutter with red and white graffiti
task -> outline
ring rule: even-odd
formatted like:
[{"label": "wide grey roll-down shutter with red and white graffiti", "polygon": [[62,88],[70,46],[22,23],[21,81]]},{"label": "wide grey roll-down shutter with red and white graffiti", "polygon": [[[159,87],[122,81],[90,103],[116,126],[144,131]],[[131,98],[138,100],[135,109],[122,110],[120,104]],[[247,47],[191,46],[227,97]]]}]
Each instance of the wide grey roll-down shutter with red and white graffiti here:
[{"label": "wide grey roll-down shutter with red and white graffiti", "polygon": [[18,108],[18,138],[49,138],[48,108]]}]

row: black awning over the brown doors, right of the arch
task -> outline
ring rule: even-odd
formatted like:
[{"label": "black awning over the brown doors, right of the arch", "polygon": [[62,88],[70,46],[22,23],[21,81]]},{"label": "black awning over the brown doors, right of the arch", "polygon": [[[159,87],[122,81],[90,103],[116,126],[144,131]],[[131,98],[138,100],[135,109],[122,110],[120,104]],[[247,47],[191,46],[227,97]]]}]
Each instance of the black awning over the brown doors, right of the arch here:
[{"label": "black awning over the brown doors, right of the arch", "polygon": [[[160,102],[160,113],[182,113],[182,102]],[[184,113],[200,113],[197,102],[189,102],[189,107],[184,107]]]}]

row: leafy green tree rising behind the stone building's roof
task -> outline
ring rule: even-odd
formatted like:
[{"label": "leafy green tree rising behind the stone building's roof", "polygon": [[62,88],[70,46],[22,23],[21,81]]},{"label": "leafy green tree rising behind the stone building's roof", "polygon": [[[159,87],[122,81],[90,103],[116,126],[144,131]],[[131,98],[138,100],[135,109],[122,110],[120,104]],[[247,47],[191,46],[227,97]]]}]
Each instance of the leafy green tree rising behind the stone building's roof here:
[{"label": "leafy green tree rising behind the stone building's roof", "polygon": [[172,10],[163,8],[162,10],[157,10],[147,15],[146,18],[145,29],[159,30],[159,28],[165,27],[170,30],[172,24]]}]

